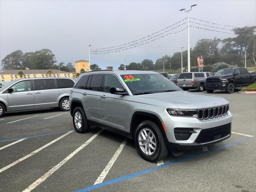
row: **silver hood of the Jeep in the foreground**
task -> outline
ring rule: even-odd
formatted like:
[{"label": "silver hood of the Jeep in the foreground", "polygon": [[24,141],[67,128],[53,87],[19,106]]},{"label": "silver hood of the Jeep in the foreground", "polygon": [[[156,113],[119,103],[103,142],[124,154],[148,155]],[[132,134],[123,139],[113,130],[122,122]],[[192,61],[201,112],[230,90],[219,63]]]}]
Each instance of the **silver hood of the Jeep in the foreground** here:
[{"label": "silver hood of the Jeep in the foreground", "polygon": [[187,91],[137,95],[136,97],[144,103],[162,106],[164,108],[174,108],[176,106],[176,108],[180,109],[201,109],[229,103],[228,100],[219,96],[194,94]]}]

